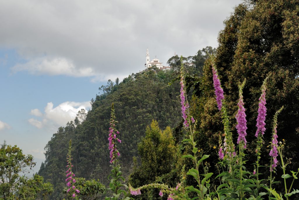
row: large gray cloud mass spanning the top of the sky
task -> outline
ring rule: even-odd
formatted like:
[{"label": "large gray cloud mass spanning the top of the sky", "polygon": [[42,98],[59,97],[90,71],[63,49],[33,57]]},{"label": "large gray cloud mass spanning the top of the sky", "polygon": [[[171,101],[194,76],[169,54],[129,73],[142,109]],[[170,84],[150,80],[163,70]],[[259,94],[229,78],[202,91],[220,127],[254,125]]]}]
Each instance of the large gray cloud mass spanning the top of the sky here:
[{"label": "large gray cloud mass spanning the top of the sky", "polygon": [[0,46],[27,62],[13,72],[107,80],[144,69],[146,48],[164,64],[217,46],[240,0],[1,1]]}]

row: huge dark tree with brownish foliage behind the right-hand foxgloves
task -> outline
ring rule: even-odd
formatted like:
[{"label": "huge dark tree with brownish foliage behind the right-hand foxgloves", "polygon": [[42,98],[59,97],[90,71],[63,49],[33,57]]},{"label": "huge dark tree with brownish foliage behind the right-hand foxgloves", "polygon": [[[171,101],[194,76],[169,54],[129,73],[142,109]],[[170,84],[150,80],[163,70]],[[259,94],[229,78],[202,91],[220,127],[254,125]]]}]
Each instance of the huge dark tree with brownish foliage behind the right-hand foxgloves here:
[{"label": "huge dark tree with brownish foliage behind the right-hand foxgloves", "polygon": [[[263,80],[270,75],[266,93],[267,117],[265,143],[271,140],[271,116],[281,107],[278,137],[287,141],[286,157],[298,155],[298,110],[299,110],[299,16],[298,1],[254,1],[250,9],[240,4],[234,13],[224,22],[225,28],[219,33],[219,47],[215,65],[225,91],[225,103],[231,116],[231,129],[237,135],[235,114],[237,112],[238,84],[246,78],[243,90],[247,127],[256,130],[258,98]],[[198,144],[205,152],[211,152],[218,144],[218,135],[222,133],[220,113],[216,109],[216,100],[212,82],[211,60],[203,68],[203,81],[196,88],[193,102],[193,116],[199,120]],[[250,162],[256,159],[254,134],[248,131],[247,141]],[[268,164],[267,149],[262,149],[261,160]],[[212,157],[211,157],[212,158]],[[293,159],[293,167],[299,166]],[[251,166],[249,166],[251,167]],[[265,171],[265,178],[267,172]],[[279,171],[277,173],[280,173]]]}]

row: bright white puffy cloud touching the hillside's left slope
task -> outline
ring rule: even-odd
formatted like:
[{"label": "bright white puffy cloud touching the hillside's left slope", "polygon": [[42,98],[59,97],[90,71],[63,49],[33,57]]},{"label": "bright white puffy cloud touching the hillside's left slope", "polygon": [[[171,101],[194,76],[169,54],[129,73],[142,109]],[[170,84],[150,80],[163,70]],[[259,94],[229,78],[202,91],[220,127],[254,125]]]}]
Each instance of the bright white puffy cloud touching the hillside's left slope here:
[{"label": "bright white puffy cloud touching the hillside's left slope", "polygon": [[72,101],[66,101],[58,106],[54,107],[54,104],[52,102],[47,103],[47,106],[45,106],[44,113],[42,114],[38,109],[31,110],[31,114],[39,117],[43,116],[42,121],[36,120],[34,118],[31,118],[28,120],[28,122],[36,126],[37,128],[43,128],[45,126],[65,126],[69,121],[74,121],[76,118],[78,112],[81,109],[87,110],[90,108],[90,102],[72,102]]}]

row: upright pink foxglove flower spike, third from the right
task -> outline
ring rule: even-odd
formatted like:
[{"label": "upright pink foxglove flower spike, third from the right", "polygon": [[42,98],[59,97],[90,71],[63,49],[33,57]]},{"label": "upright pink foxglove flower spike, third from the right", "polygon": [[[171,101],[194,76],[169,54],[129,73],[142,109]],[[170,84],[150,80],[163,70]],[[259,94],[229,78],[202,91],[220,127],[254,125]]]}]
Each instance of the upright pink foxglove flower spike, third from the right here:
[{"label": "upright pink foxglove flower spike, third from the right", "polygon": [[239,103],[238,103],[238,113],[236,114],[236,119],[237,119],[237,125],[236,129],[239,134],[237,143],[239,144],[240,142],[244,141],[244,149],[246,148],[246,138],[245,136],[247,135],[246,133],[246,114],[245,114],[245,108],[244,108],[244,102],[243,102],[243,95],[242,95],[242,89],[245,85],[245,80],[242,83],[241,86],[239,86]]}]

